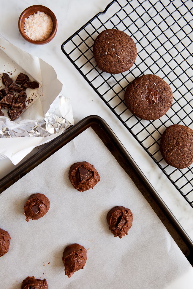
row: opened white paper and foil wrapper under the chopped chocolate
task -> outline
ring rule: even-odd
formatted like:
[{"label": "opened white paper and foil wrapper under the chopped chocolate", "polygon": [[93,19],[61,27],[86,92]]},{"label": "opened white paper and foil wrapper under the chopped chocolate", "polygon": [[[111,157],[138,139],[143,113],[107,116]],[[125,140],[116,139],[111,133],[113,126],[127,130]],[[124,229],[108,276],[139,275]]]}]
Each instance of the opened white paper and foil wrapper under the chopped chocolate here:
[{"label": "opened white paper and foil wrapper under the chopped chocolate", "polygon": [[[37,90],[26,89],[27,100],[29,99],[26,103],[27,109],[15,121],[10,121],[7,109],[3,108],[5,116],[0,116],[0,157],[7,156],[17,165],[35,146],[49,142],[74,124],[72,106],[54,68],[39,57],[16,47],[4,39],[1,33],[0,68],[1,76],[6,72],[14,81],[18,74],[23,72],[27,73],[32,81],[39,82]],[[0,77],[1,87],[4,85]],[[47,127],[48,130],[36,133],[36,126]],[[53,127],[59,129],[53,132]],[[12,133],[9,133],[10,131]]]}]

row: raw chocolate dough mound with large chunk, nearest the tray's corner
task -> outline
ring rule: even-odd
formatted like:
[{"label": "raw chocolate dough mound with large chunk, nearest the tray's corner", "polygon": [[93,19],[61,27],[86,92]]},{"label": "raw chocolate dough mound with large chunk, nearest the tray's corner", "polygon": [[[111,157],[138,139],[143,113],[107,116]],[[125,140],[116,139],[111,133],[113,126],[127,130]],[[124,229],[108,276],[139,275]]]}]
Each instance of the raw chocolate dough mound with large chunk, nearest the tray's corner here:
[{"label": "raw chocolate dough mound with large chunk, nearest the tray's corner", "polygon": [[76,162],[69,170],[69,179],[72,185],[79,192],[93,189],[100,181],[99,174],[95,167],[88,162]]}]

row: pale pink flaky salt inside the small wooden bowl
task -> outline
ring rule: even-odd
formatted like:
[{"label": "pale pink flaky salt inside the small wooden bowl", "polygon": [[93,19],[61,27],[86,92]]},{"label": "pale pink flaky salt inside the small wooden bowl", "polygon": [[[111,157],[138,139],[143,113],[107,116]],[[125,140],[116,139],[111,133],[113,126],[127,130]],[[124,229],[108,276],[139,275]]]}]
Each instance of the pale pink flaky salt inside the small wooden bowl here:
[{"label": "pale pink flaky salt inside the small wooden bowl", "polygon": [[52,18],[44,12],[34,13],[25,18],[24,32],[34,41],[47,39],[53,31]]}]

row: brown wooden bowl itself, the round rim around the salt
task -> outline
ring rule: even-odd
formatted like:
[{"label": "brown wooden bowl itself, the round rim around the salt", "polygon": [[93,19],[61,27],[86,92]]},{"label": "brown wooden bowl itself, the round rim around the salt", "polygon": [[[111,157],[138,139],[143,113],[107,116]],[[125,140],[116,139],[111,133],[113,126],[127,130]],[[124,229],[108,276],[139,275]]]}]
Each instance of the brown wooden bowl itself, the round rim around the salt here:
[{"label": "brown wooden bowl itself, the round rim around the salt", "polygon": [[[44,12],[47,15],[49,15],[52,18],[52,22],[53,22],[52,33],[50,34],[50,36],[47,39],[42,40],[42,41],[31,40],[24,32],[25,18],[28,18],[30,15],[32,15],[34,13],[37,13],[37,11]],[[19,28],[19,31],[20,31],[21,35],[23,36],[23,38],[26,39],[28,42],[30,42],[32,44],[37,44],[37,45],[46,44],[46,43],[50,42],[54,38],[54,36],[56,35],[57,26],[58,26],[58,24],[57,24],[56,16],[54,15],[54,13],[49,8],[42,6],[42,5],[33,5],[33,6],[26,8],[21,13],[19,20],[18,20],[18,28]]]}]

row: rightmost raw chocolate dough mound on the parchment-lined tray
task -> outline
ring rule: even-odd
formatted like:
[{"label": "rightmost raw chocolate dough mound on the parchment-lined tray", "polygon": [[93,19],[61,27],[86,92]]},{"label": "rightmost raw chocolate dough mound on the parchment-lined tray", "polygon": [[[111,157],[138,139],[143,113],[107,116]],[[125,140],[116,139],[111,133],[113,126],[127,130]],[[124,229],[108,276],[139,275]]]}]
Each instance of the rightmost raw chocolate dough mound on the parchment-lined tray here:
[{"label": "rightmost raw chocolate dough mound on the parchment-lined tray", "polygon": [[132,226],[133,214],[125,207],[116,206],[107,214],[107,223],[111,233],[120,239],[128,234]]}]

